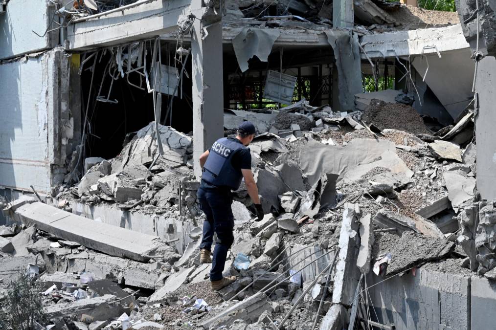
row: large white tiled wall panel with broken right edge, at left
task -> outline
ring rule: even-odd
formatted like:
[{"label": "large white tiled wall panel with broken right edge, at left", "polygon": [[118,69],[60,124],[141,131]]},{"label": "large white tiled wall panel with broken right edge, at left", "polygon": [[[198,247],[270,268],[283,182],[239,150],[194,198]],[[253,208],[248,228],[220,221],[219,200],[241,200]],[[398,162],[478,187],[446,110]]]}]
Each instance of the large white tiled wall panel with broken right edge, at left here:
[{"label": "large white tiled wall panel with broken right edge, at left", "polygon": [[0,64],[0,185],[48,192],[71,152],[69,60],[60,49]]}]

